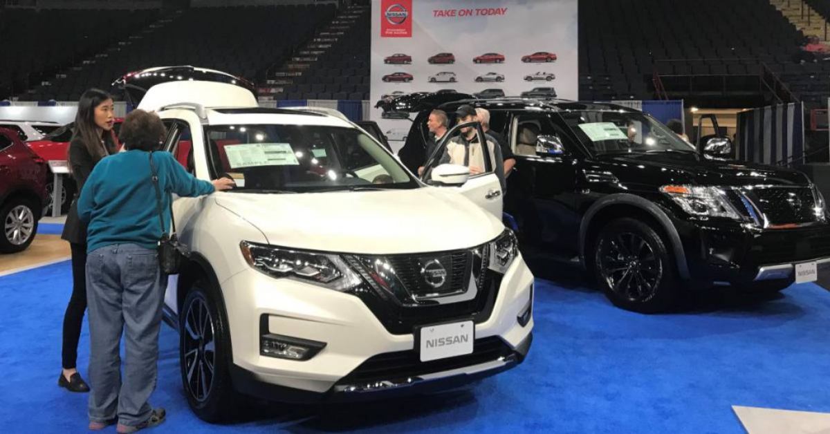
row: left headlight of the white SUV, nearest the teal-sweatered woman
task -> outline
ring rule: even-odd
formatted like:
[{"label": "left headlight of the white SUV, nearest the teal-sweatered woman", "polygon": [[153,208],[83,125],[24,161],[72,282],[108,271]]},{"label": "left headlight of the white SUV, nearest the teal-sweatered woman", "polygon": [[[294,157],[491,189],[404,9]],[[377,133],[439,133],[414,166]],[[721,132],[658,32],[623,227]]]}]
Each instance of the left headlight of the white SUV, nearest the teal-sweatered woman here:
[{"label": "left headlight of the white SUV, nearest the teal-sweatered woman", "polygon": [[301,280],[331,290],[350,290],[360,277],[339,255],[298,251],[242,241],[242,256],[257,271],[276,278]]}]

